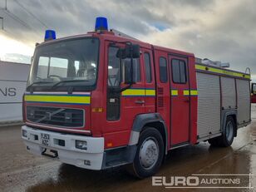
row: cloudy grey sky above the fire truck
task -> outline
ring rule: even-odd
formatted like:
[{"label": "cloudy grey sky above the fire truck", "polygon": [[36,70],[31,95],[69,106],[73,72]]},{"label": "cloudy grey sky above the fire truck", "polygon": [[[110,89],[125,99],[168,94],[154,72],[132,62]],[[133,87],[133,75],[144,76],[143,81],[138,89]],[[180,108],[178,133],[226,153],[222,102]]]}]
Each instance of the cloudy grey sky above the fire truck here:
[{"label": "cloudy grey sky above the fire truck", "polygon": [[[195,57],[250,67],[256,81],[255,0],[0,0],[0,58],[30,62],[47,28],[66,37],[94,30],[95,18],[110,28]],[[1,23],[0,19],[0,24]]]}]

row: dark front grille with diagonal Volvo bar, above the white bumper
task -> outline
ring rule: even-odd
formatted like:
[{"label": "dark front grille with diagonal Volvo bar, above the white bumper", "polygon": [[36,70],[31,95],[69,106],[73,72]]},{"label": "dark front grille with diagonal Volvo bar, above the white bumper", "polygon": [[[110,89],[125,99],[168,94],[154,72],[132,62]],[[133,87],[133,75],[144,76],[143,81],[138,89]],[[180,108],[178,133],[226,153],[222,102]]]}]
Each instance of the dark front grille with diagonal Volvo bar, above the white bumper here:
[{"label": "dark front grille with diagonal Volvo bar, above the white bumper", "polygon": [[56,107],[27,106],[27,120],[49,126],[84,126],[84,111]]}]

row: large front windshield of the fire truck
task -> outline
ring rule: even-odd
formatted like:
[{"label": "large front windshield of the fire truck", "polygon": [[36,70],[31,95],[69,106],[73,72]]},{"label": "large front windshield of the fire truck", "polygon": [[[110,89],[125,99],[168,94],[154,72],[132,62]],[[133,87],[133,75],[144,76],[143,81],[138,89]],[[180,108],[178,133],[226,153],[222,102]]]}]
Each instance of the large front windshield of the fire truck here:
[{"label": "large front windshield of the fire truck", "polygon": [[[96,86],[99,40],[79,38],[39,46],[27,87],[33,91],[91,91]],[[28,90],[27,90],[28,91]]]}]

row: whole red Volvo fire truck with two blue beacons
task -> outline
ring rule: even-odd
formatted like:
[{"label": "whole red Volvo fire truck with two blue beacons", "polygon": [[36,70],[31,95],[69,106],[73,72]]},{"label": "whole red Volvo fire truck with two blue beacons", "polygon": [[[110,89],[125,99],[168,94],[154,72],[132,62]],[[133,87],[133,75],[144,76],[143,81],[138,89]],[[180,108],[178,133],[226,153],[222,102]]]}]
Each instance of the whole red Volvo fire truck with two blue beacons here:
[{"label": "whole red Volvo fire truck with two blue beacons", "polygon": [[32,154],[145,178],[175,148],[231,145],[251,121],[250,75],[108,31],[98,17],[94,32],[48,30],[37,44],[23,119]]}]

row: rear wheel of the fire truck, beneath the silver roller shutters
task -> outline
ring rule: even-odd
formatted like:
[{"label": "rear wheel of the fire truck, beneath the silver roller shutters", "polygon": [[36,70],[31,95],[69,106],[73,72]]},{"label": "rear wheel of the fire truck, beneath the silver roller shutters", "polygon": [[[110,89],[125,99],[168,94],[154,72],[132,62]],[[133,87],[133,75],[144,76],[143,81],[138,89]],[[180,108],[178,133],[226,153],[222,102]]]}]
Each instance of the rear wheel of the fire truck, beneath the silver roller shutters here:
[{"label": "rear wheel of the fire truck, beneath the silver roller shutters", "polygon": [[227,147],[234,140],[235,123],[232,116],[228,116],[221,136],[208,140],[210,145]]}]

